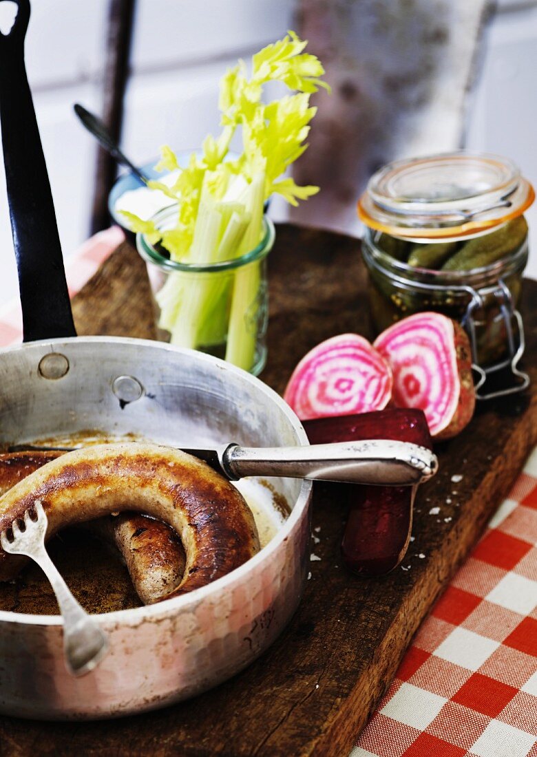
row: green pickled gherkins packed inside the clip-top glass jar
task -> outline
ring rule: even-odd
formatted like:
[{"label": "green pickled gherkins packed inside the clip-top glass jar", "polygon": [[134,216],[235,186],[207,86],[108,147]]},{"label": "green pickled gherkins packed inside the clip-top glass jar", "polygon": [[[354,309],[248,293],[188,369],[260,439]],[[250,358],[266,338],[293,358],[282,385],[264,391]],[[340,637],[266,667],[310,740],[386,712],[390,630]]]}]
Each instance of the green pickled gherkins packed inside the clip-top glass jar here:
[{"label": "green pickled gherkins packed inside the clip-top glass jar", "polygon": [[[379,333],[395,321],[426,310],[464,324],[475,291],[482,305],[473,310],[478,363],[486,367],[504,360],[508,340],[498,287],[501,281],[502,291],[517,307],[527,260],[526,220],[520,217],[489,234],[462,241],[427,244],[392,238],[401,242],[393,245],[388,240],[386,233],[368,229],[362,245],[374,330]],[[401,260],[403,245],[406,261]],[[399,257],[389,249],[396,249]]]}]

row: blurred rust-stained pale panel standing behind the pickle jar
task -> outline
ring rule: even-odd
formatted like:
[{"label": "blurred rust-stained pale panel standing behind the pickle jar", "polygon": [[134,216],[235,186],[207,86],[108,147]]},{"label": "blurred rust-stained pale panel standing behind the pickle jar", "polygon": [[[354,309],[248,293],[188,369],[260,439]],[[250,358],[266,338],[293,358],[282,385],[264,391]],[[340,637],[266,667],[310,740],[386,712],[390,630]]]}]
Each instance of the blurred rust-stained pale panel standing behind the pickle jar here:
[{"label": "blurred rust-stained pale panel standing behind the pickle jar", "polygon": [[293,218],[358,232],[356,198],[379,167],[464,145],[491,14],[490,0],[301,0],[332,94],[317,95],[295,172],[322,191]]}]

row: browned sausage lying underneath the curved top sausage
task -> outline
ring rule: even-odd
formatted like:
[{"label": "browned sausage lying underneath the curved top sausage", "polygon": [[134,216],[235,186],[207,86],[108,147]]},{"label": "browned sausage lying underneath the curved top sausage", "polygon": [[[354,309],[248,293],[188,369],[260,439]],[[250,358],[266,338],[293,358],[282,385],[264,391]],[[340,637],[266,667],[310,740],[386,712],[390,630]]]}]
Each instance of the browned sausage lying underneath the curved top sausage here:
[{"label": "browned sausage lying underneath the curved top sausage", "polygon": [[[13,452],[0,454],[0,497],[30,473],[63,452]],[[166,597],[181,583],[185,550],[172,529],[161,521],[136,512],[98,518],[80,526],[117,547],[130,573],[136,593],[145,605]]]}]

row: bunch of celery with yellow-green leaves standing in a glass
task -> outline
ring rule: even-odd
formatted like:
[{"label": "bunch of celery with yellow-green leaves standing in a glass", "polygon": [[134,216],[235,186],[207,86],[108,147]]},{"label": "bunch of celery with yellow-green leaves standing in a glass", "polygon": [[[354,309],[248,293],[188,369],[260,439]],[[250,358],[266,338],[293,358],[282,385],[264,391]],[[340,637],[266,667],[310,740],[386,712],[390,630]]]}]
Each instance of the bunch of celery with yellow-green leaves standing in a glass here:
[{"label": "bunch of celery with yellow-green leaves standing in a glass", "polygon": [[[264,256],[258,259],[252,251],[270,237],[264,205],[274,194],[296,205],[319,189],[283,176],[308,146],[305,139],[316,112],[310,107],[311,93],[327,88],[320,79],[323,67],[304,52],[306,44],[289,32],[253,56],[249,74],[243,61],[226,72],[220,82],[222,132],[216,139],[207,136],[201,154],[192,154],[186,168],[180,169],[169,147],[162,148],[157,168],[177,172],[176,181],[171,186],[151,181],[149,186],[175,204],[172,223],[170,213],[162,224],[156,217],[145,221],[123,211],[139,237],[158,244],[171,263],[180,264],[157,294],[158,326],[170,333],[171,343],[206,351],[224,347],[226,360],[245,370],[254,368],[256,323],[263,317]],[[265,102],[264,85],[273,81],[294,92]],[[236,132],[242,152],[231,156]],[[229,261],[236,263],[231,264],[233,276]]]}]

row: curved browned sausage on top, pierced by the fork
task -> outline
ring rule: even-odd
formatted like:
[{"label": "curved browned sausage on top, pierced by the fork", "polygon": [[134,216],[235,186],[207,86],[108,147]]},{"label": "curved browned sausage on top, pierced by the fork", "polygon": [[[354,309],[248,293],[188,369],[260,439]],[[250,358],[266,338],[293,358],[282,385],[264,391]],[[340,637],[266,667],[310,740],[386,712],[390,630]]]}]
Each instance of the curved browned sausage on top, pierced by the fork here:
[{"label": "curved browned sausage on top, pierced by the fork", "polygon": [[[41,500],[48,536],[126,509],[167,522],[180,535],[186,569],[176,597],[205,586],[259,550],[251,511],[229,481],[200,460],[155,444],[99,444],[54,459],[0,497],[0,531]],[[0,550],[0,580],[20,562]]]}]

